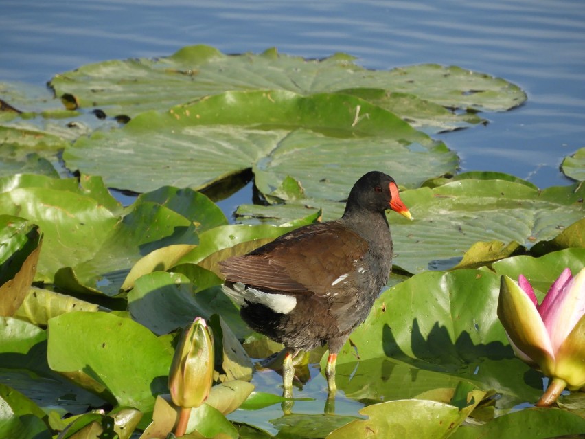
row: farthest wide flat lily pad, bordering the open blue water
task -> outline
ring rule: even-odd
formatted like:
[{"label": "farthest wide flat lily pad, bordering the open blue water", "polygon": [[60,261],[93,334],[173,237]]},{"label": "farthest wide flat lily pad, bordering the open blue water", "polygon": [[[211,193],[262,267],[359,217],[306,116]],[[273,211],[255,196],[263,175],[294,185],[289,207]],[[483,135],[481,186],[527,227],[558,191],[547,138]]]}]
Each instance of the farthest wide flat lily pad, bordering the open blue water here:
[{"label": "farthest wide flat lily pad, bordering the open blue water", "polygon": [[205,45],[187,46],[156,60],[111,60],[79,67],[49,83],[56,95],[80,106],[134,117],[229,90],[281,89],[310,94],[376,88],[417,95],[450,108],[501,111],[520,105],[525,93],[500,78],[459,67],[419,65],[372,71],[336,54],[305,60],[268,49],[227,56]]}]

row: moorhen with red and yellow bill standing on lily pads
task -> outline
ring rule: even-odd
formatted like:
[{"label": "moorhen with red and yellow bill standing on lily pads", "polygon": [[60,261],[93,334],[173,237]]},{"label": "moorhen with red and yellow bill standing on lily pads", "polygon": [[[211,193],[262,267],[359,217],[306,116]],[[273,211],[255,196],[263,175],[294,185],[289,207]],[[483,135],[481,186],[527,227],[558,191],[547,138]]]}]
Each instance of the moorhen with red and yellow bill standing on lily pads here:
[{"label": "moorhen with red and yellow bill standing on lily pads", "polygon": [[335,391],[337,353],[367,317],[392,268],[387,209],[412,219],[394,179],[368,172],[349,192],[340,219],[300,227],[220,262],[223,289],[240,304],[244,322],[284,344],[285,391],[295,374],[292,359],[325,343],[325,376]]}]

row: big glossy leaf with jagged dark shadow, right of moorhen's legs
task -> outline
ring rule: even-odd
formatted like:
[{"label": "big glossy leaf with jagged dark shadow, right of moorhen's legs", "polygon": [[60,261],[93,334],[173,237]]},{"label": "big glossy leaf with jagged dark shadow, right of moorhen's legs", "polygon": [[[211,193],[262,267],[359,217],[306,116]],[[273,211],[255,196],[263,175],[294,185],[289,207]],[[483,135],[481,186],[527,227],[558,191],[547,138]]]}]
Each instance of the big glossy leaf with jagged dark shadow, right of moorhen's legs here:
[{"label": "big glossy leaf with jagged dark shadow, right of moorhen's legs", "polygon": [[338,386],[387,401],[467,381],[506,394],[503,405],[536,401],[542,376],[508,346],[496,315],[499,284],[488,271],[427,271],[385,291],[339,354]]}]

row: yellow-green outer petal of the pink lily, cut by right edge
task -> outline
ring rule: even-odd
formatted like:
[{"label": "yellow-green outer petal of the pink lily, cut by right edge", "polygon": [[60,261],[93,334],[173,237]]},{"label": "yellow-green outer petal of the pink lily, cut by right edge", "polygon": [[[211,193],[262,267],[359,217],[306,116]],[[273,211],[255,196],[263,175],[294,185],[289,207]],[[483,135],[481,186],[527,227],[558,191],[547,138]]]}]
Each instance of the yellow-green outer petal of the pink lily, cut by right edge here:
[{"label": "yellow-green outer petal of the pink lily, cut by right edge", "polygon": [[585,385],[585,315],[560,346],[555,375],[564,379],[571,390]]}]

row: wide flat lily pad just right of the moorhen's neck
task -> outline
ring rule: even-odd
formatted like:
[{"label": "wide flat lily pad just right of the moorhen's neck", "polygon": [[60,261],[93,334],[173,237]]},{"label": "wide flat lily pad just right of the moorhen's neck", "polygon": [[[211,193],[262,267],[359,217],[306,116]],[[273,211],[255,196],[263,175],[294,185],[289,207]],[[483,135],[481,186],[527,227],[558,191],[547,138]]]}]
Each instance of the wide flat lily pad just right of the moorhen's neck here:
[{"label": "wide flat lily pad just right of the moorhen's neck", "polygon": [[[534,190],[501,180],[463,180],[402,192],[415,221],[389,216],[395,264],[410,273],[449,269],[479,241],[530,248],[550,240],[583,216],[576,185]],[[486,254],[485,262],[493,257]],[[479,261],[475,261],[479,262]]]}]

